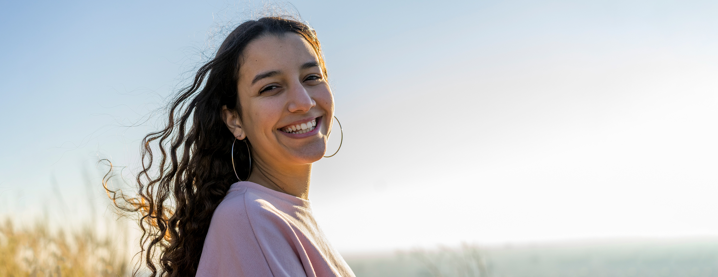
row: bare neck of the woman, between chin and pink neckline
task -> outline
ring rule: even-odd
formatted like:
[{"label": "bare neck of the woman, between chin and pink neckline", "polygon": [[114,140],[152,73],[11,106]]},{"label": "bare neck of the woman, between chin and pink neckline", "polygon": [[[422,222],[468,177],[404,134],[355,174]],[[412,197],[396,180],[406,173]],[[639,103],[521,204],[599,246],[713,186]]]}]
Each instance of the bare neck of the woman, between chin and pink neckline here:
[{"label": "bare neck of the woman, between chin and pink neckline", "polygon": [[309,199],[309,179],[312,174],[312,164],[299,166],[268,166],[261,161],[255,161],[252,173],[247,181],[261,184],[277,192],[284,192],[302,199]]}]

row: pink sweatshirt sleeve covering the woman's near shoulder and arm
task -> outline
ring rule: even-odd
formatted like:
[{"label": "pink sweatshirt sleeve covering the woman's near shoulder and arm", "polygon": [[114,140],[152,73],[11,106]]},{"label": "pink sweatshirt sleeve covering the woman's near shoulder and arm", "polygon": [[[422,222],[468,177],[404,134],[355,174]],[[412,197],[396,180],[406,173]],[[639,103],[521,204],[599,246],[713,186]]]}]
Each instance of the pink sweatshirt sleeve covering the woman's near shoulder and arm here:
[{"label": "pink sweatshirt sleeve covering the woman's near shoulder and arm", "polygon": [[[228,194],[215,210],[197,277],[307,276],[286,222],[264,203]],[[289,232],[289,233],[288,233]]]}]

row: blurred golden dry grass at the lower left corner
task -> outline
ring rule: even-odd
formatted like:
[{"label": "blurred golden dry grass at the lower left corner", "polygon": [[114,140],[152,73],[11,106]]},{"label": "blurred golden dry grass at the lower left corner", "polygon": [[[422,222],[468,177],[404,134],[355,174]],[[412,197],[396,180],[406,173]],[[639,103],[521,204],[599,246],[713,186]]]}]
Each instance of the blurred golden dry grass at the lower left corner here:
[{"label": "blurred golden dry grass at the lower left corner", "polygon": [[65,233],[47,225],[0,223],[0,276],[127,276],[129,258],[90,228]]}]

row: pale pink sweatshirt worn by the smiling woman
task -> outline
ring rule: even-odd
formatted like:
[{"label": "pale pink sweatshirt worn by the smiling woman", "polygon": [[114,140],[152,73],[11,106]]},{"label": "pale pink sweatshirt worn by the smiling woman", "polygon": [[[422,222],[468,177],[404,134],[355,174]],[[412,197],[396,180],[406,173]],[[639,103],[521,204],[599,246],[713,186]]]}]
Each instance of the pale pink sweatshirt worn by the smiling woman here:
[{"label": "pale pink sweatshirt worn by the smiling woman", "polygon": [[215,210],[197,277],[354,277],[312,216],[309,201],[232,184]]}]

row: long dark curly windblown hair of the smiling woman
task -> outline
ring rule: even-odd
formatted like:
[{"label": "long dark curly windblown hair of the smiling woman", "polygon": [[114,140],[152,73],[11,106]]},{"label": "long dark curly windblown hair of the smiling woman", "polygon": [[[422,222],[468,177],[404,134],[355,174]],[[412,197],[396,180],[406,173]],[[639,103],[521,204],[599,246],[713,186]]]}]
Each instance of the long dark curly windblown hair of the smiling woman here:
[{"label": "long dark curly windblown hair of the smiling woman", "polygon": [[[240,24],[167,106],[167,126],[142,140],[137,197],[124,197],[103,185],[117,207],[139,213],[141,262],[155,276],[195,276],[213,212],[237,182],[231,161],[233,134],[221,116],[226,105],[241,117],[237,85],[243,51],[254,39],[299,34],[326,67],[314,29],[292,17],[263,17]],[[251,148],[251,138],[248,138]],[[236,173],[250,170],[248,147],[235,147]],[[159,156],[154,151],[159,150]],[[118,202],[117,200],[124,200]],[[139,272],[138,267],[135,275]]]}]

